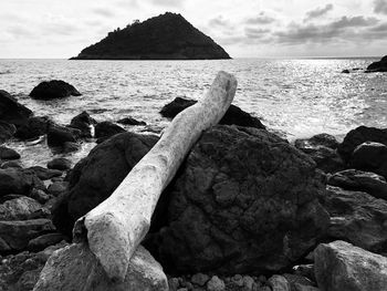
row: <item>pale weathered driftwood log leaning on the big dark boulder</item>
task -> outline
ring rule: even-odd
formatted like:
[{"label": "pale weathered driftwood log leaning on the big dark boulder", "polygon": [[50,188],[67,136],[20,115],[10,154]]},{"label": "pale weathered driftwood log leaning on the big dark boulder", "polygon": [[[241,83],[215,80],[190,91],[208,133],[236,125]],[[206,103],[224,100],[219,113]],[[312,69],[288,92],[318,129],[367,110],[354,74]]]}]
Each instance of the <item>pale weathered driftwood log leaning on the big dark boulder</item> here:
[{"label": "pale weathered driftwood log leaning on the big dark boulder", "polygon": [[130,257],[149,229],[161,191],[201,133],[222,118],[236,90],[237,80],[219,72],[206,96],[174,118],[112,196],[75,222],[74,241],[87,240],[112,280],[125,279]]}]

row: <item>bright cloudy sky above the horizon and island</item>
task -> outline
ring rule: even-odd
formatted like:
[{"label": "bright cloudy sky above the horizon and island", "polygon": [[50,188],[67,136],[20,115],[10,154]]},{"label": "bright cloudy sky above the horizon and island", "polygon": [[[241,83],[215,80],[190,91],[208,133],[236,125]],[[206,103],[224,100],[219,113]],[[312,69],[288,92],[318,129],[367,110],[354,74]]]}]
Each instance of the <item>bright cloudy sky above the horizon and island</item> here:
[{"label": "bright cloudy sky above the horizon and island", "polygon": [[387,0],[1,0],[0,58],[70,58],[124,28],[179,12],[233,58],[378,56]]}]

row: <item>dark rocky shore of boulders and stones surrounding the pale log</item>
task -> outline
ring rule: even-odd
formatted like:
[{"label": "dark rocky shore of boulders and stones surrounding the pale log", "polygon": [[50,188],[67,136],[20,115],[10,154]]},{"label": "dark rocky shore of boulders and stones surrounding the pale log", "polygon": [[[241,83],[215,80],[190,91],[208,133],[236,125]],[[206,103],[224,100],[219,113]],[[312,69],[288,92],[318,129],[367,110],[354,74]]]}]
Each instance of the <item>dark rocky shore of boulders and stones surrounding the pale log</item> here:
[{"label": "dark rocky shore of boulders and stones surrounding the pale log", "polygon": [[[32,92],[80,94],[63,81]],[[176,98],[160,114],[172,118],[194,103]],[[129,116],[116,122],[144,125]],[[0,146],[0,290],[46,290],[40,273],[50,276],[60,253],[71,258],[74,221],[106,199],[159,138],[117,123],[80,112],[60,125],[0,91],[0,143],[45,139],[55,154],[46,167],[23,168],[17,150]],[[75,165],[63,157],[90,139],[98,145],[87,157]],[[386,290],[386,178],[387,128],[360,126],[342,143],[320,134],[291,144],[231,106],[164,191],[134,262],[151,279],[133,274],[133,288]],[[72,273],[74,263],[85,264],[87,278],[101,269],[88,259],[63,266],[62,274],[72,274],[66,290],[86,276]],[[87,290],[104,290],[97,278]]]}]

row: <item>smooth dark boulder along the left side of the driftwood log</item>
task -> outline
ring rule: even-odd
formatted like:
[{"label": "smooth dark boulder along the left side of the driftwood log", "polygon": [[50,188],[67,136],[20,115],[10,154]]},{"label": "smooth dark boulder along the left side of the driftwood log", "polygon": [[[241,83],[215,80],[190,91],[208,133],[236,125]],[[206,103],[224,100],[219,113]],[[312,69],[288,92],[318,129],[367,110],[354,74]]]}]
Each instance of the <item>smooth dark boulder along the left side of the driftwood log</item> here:
[{"label": "smooth dark boulder along the left side of the driftwood log", "polygon": [[55,226],[71,236],[74,221],[109,197],[157,141],[123,133],[93,148],[69,176],[69,194],[53,209]]}]

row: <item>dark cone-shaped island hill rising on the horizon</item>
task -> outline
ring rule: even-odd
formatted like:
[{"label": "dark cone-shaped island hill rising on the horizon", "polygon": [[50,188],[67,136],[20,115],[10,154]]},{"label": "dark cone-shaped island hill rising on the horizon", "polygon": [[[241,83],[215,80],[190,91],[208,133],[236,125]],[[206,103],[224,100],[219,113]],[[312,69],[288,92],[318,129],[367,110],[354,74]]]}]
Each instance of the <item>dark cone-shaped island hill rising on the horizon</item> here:
[{"label": "dark cone-shaped island hill rising on the horizon", "polygon": [[220,60],[230,55],[180,14],[167,12],[84,49],[72,60]]}]

